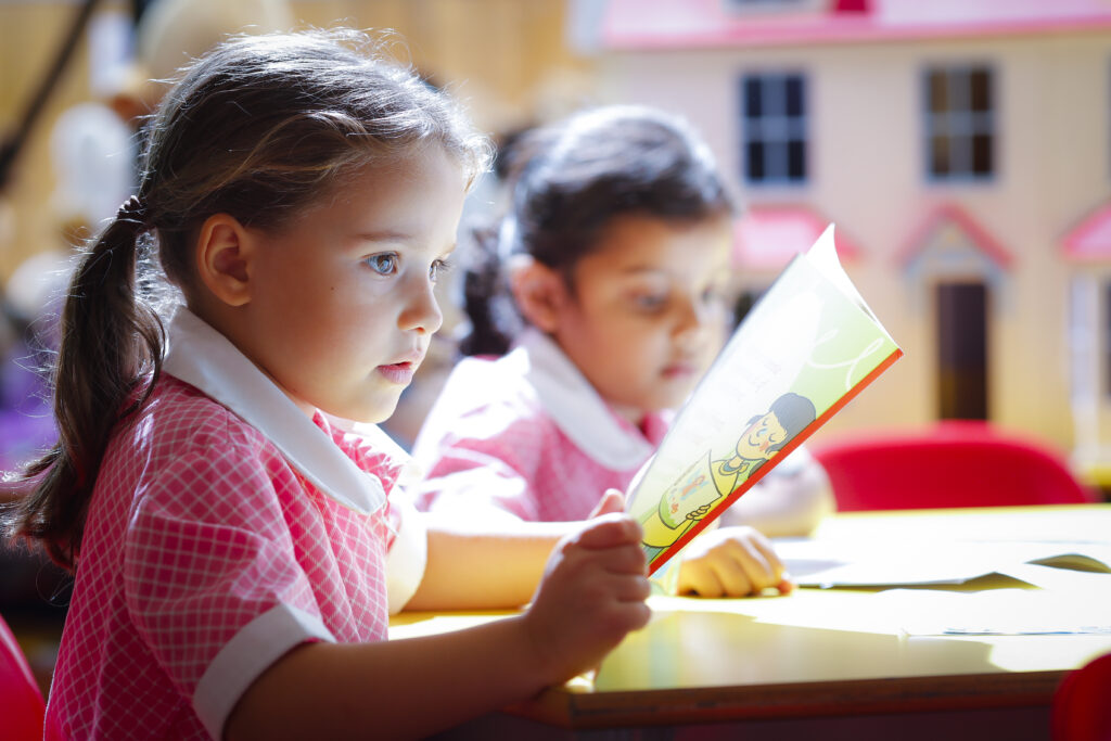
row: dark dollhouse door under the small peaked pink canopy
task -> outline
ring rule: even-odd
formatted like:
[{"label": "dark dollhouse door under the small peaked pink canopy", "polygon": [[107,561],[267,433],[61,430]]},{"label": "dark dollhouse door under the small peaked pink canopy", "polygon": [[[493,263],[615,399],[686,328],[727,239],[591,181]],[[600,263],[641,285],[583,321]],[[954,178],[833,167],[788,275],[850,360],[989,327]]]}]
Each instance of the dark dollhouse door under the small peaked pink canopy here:
[{"label": "dark dollhouse door under the small peaked pink canopy", "polygon": [[937,287],[938,414],[988,419],[988,288],[982,282]]}]

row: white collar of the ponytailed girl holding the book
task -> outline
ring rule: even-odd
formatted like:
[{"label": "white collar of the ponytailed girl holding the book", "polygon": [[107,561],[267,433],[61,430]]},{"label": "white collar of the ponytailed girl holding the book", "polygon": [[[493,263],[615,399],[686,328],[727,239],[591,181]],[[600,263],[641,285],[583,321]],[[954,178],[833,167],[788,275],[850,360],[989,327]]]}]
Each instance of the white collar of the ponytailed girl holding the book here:
[{"label": "white collar of the ponytailed girl holding the book", "polygon": [[[170,322],[169,342],[163,371],[197,387],[258,429],[314,487],[363,514],[386,503],[377,477],[356,465],[236,346],[184,307]],[[369,427],[362,425],[360,434],[366,435]],[[378,433],[386,438],[384,432]],[[394,454],[392,449],[386,452]]]}]

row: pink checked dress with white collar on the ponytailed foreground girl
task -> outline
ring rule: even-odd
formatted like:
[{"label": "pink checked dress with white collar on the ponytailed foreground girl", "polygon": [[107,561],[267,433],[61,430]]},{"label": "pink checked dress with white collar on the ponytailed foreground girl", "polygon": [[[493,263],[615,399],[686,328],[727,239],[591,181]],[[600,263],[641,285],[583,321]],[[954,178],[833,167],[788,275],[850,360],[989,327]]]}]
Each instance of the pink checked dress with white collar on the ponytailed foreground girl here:
[{"label": "pink checked dress with white collar on the ponytailed foreground girl", "polygon": [[423,570],[423,531],[387,503],[393,451],[310,421],[189,312],[170,337],[97,478],[48,738],[219,739],[291,648],[386,639],[391,545]]}]

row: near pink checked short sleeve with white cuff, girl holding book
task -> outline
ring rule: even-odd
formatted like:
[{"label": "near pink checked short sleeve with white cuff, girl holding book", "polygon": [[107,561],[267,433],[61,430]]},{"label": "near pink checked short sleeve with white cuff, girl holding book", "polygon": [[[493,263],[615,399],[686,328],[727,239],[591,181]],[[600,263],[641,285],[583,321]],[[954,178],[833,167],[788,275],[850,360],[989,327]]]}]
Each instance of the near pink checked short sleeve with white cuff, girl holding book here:
[{"label": "near pink checked short sleeve with white cuff, girl holding book", "polygon": [[143,477],[126,533],[128,609],[216,738],[277,659],[334,640],[294,553],[280,465],[234,444],[178,455]]}]

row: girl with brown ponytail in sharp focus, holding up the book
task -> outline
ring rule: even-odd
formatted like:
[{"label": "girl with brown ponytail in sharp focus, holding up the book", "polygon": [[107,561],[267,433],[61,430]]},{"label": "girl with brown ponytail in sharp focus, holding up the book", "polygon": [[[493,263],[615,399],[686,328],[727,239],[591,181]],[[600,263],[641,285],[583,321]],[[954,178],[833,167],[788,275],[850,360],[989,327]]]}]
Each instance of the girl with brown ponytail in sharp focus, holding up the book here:
[{"label": "girl with brown ponytail in sharp focus, holding up the book", "polygon": [[[639,528],[614,514],[564,530],[519,617],[384,640],[407,601],[527,600],[554,531],[426,534],[390,495],[394,449],[344,431],[389,415],[421,362],[488,159],[367,43],[246,37],[203,57],[77,267],[61,441],[6,523],[76,570],[50,738],[426,735],[592,667],[648,620]],[[156,260],[184,299],[164,332],[144,300]],[[493,548],[507,564],[476,565]]]}]

